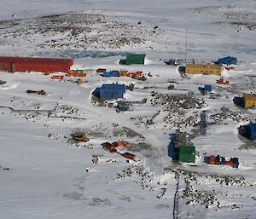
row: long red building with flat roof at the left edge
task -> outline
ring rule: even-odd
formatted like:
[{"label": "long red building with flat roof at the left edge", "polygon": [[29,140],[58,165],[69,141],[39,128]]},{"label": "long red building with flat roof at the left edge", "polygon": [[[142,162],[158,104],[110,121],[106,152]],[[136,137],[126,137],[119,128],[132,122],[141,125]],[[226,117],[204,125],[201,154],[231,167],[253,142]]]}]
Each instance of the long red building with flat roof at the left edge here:
[{"label": "long red building with flat roof at the left edge", "polygon": [[0,57],[0,71],[4,72],[68,72],[73,59]]}]

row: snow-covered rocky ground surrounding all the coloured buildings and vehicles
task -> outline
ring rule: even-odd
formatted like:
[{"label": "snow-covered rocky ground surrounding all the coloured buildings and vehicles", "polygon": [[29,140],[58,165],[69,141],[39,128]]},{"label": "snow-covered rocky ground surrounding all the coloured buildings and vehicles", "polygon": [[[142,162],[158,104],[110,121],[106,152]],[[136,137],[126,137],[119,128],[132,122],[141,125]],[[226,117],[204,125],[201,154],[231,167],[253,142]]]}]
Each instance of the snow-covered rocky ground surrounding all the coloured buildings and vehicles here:
[{"label": "snow-covered rocky ground surrounding all the coloured buildings and vehicles", "polygon": [[[73,57],[75,69],[94,72],[80,86],[73,78],[59,82],[43,73],[1,72],[0,80],[7,82],[0,85],[1,219],[172,218],[177,172],[177,218],[256,218],[255,143],[237,133],[240,124],[256,121],[255,110],[232,102],[236,95],[255,92],[247,77],[256,71],[254,1],[3,2],[1,55]],[[52,17],[61,20],[54,28]],[[235,69],[224,71],[229,86],[216,84],[217,76],[183,78],[176,66],[164,64],[184,58],[186,29],[187,58],[238,58]],[[125,41],[118,41],[121,36]],[[145,53],[147,65],[119,66],[127,52]],[[102,78],[98,67],[152,77],[145,82]],[[140,84],[126,91],[125,100],[147,102],[117,113],[111,107],[115,101],[103,106],[93,101],[96,87],[114,82]],[[212,95],[201,95],[203,84],[212,84]],[[199,135],[204,110],[207,135]],[[74,144],[76,130],[84,130],[90,141]],[[175,164],[167,156],[175,130],[191,136],[200,155],[197,166]],[[141,162],[102,149],[103,142],[117,140],[130,141],[131,149],[121,150]],[[204,154],[238,157],[241,165],[210,166],[203,163]]]}]

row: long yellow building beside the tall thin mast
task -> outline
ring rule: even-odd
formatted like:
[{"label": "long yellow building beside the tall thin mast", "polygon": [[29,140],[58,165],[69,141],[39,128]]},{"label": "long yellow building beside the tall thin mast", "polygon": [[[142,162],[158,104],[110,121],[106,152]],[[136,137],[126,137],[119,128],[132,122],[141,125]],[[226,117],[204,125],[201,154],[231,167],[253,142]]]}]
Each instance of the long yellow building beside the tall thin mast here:
[{"label": "long yellow building beside the tall thin mast", "polygon": [[185,72],[187,74],[214,74],[221,76],[222,66],[219,65],[195,65],[186,64]]}]

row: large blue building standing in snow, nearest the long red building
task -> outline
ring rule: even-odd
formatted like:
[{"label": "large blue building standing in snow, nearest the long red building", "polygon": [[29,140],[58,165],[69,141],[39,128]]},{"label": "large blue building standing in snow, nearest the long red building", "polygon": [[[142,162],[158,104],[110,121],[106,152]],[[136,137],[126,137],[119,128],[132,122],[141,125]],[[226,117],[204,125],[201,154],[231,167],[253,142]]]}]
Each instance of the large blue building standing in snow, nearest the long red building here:
[{"label": "large blue building standing in snow, nearest the long red building", "polygon": [[100,88],[100,99],[111,100],[123,98],[125,94],[125,84],[103,84]]}]

